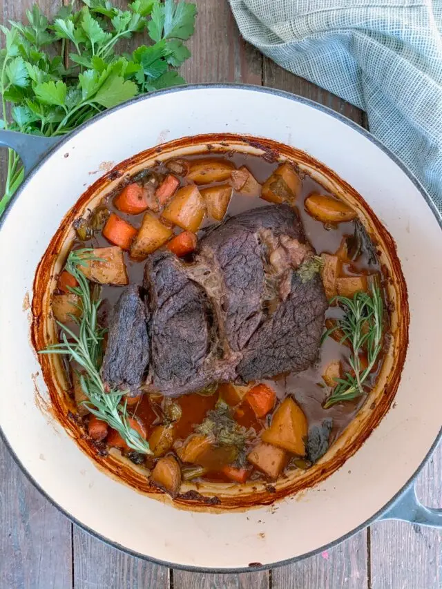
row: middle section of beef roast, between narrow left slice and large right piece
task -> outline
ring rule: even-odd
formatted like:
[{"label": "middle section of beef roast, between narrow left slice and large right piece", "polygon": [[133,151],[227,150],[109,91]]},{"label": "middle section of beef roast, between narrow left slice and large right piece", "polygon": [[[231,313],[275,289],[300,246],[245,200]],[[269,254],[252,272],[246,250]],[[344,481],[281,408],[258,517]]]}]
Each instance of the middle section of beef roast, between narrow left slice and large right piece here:
[{"label": "middle section of beef roast, between narrow left slice and large right piece", "polygon": [[144,273],[151,309],[151,367],[146,390],[164,395],[200,391],[234,380],[236,363],[219,357],[206,293],[169,252],[151,255]]}]

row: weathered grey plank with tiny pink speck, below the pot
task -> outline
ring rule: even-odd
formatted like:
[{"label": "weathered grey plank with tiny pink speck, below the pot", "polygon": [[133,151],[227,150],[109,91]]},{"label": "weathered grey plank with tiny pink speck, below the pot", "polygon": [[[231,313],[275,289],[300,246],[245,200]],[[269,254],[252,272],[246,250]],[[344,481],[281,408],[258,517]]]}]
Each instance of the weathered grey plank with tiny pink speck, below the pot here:
[{"label": "weathered grey plank with tiny pink speck, below the pot", "polygon": [[366,589],[366,532],[310,557],[272,571],[272,589]]}]

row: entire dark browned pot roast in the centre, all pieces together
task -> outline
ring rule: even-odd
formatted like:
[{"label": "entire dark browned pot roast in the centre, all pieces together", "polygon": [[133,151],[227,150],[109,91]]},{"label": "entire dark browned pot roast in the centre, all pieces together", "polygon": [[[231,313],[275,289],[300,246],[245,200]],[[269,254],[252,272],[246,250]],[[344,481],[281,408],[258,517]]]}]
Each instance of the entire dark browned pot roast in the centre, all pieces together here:
[{"label": "entire dark browned pot roast in the centre, all pieces together", "polygon": [[298,213],[263,206],[212,226],[192,262],[148,258],[113,310],[102,378],[165,396],[310,367],[327,298]]}]

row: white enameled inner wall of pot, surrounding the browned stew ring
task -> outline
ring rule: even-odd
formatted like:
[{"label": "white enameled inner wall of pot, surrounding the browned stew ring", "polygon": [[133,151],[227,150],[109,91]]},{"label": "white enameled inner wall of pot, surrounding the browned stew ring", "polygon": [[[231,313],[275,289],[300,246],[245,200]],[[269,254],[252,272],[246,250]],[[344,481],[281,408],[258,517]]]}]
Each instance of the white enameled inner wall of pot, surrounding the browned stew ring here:
[{"label": "white enameled inner wall of pot, surrounding the browned stew ring", "polygon": [[[32,297],[35,269],[65,213],[110,162],[171,139],[224,132],[296,146],[363,195],[396,240],[411,323],[394,409],[344,467],[276,508],[210,514],[177,510],[109,478],[42,411],[46,387],[23,301]],[[3,222],[0,251],[3,434],[52,501],[124,548],[198,568],[243,568],[298,557],[381,510],[439,433],[441,228],[419,190],[381,148],[311,104],[253,88],[203,87],[152,95],[114,110],[70,137],[35,171]]]}]

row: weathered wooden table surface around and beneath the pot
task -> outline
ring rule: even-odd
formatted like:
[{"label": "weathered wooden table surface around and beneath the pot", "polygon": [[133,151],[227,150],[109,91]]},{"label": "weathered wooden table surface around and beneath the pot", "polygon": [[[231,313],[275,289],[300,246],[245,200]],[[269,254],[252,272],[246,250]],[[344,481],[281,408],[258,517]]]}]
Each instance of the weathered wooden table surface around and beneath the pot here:
[{"label": "weathered wooden table surface around and beneath the pot", "polygon": [[[39,4],[53,14],[60,3],[41,0]],[[3,0],[0,21],[24,19],[30,4]],[[124,6],[124,0],[120,4]],[[197,0],[197,4],[196,32],[189,42],[192,57],[182,68],[187,81],[280,88],[365,125],[361,110],[287,73],[245,44],[226,0]],[[419,476],[418,488],[426,505],[442,507],[442,447]],[[222,575],[169,570],[110,548],[70,523],[32,487],[0,442],[0,589],[25,588],[442,589],[442,533],[386,521],[316,557],[269,572]]]}]

